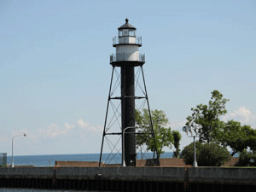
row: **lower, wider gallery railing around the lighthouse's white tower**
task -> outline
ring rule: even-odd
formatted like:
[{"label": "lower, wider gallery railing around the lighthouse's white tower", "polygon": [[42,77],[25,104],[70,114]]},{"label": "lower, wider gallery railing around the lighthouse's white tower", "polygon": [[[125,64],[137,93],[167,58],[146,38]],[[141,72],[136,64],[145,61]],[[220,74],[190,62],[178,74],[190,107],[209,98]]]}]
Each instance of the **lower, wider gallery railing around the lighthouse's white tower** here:
[{"label": "lower, wider gallery railing around the lighthouse's white tower", "polygon": [[139,53],[118,53],[110,55],[110,63],[115,61],[140,61],[145,62],[145,54]]}]

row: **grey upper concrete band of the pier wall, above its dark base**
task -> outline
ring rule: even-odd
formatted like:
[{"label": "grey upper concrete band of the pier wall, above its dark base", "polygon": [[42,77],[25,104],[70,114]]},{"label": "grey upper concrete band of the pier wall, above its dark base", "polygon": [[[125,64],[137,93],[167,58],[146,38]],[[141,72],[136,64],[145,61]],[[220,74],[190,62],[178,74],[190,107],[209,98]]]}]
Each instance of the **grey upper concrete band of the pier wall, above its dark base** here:
[{"label": "grey upper concrete band of the pier wall, above its dark base", "polygon": [[256,169],[221,167],[27,167],[0,168],[0,178],[49,178],[256,186]]}]

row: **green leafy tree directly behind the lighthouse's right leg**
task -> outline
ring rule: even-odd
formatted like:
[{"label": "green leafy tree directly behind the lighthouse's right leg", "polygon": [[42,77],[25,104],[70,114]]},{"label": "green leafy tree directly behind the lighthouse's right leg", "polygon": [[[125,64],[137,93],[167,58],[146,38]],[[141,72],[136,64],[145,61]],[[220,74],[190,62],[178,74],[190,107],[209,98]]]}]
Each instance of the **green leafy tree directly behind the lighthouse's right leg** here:
[{"label": "green leafy tree directly behind the lighthouse's right leg", "polygon": [[[153,122],[156,147],[160,155],[165,152],[163,150],[164,147],[172,148],[172,131],[171,127],[167,126],[168,119],[162,110],[151,110],[150,112]],[[143,113],[136,110],[135,120],[138,126],[143,127],[142,129],[139,129],[138,132],[144,133],[138,134],[136,137],[137,148],[141,148],[143,145],[145,145],[147,151],[152,151],[155,154],[154,137],[152,137],[152,134],[150,134],[152,131],[148,110],[143,109]]]}]

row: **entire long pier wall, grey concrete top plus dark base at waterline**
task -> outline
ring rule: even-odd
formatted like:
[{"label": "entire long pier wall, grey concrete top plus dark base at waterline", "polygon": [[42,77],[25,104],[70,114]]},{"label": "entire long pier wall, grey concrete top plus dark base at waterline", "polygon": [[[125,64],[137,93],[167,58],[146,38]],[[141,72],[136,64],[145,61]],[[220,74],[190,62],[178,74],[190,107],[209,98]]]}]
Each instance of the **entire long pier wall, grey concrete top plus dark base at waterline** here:
[{"label": "entire long pier wall, grey concrete top plus dark base at waterline", "polygon": [[[254,189],[256,169],[221,167],[0,168],[0,187],[115,191]],[[251,190],[249,190],[251,191]]]}]

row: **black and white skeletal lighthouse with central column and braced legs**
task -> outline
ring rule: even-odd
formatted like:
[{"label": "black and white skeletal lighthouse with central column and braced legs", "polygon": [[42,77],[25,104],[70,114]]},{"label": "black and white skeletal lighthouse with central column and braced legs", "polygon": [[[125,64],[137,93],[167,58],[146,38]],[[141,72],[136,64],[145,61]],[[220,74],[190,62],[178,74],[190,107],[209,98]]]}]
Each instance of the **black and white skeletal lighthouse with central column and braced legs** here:
[{"label": "black and white skeletal lighthouse with central column and braced legs", "polygon": [[[136,100],[145,99],[148,104],[148,111],[150,113],[148,94],[143,75],[144,96],[136,96],[135,93],[135,68],[139,67],[143,74],[143,64],[145,63],[145,55],[139,52],[142,47],[142,37],[137,36],[137,28],[131,26],[129,20],[125,19],[125,24],[119,26],[118,36],[113,38],[113,48],[115,54],[110,55],[110,65],[113,67],[112,78],[108,96],[108,107],[106,112],[106,119],[102,135],[102,149],[104,138],[109,135],[119,135],[121,137],[121,152],[122,162],[125,166],[136,166],[136,122],[135,110]],[[119,96],[113,96],[113,73],[115,68],[119,68],[118,82],[119,82]],[[109,103],[112,100],[120,101],[120,113],[115,112],[113,117],[117,118],[120,115],[121,123],[119,130],[110,132],[111,128],[108,127],[108,111]],[[118,110],[116,110],[118,111]],[[151,114],[150,114],[151,119]],[[154,137],[154,131],[151,119],[151,131]],[[154,140],[155,141],[155,140]],[[113,148],[117,148],[113,146]],[[100,165],[102,162],[102,149],[100,157]]]}]

